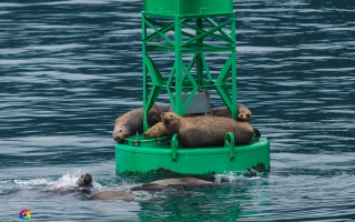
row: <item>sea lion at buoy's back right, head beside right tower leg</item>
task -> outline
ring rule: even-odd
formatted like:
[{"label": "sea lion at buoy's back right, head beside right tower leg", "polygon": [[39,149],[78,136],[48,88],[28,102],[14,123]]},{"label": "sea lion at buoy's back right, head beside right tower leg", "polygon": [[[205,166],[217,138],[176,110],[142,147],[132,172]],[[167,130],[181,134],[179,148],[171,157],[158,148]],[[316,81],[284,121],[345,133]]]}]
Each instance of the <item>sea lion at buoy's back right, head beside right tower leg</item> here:
[{"label": "sea lion at buoy's back right, head beside right tower leg", "polygon": [[[252,119],[252,112],[244,104],[237,103],[236,109],[237,109],[236,117],[239,121],[250,121]],[[212,115],[232,119],[232,112],[225,105],[213,108]]]}]

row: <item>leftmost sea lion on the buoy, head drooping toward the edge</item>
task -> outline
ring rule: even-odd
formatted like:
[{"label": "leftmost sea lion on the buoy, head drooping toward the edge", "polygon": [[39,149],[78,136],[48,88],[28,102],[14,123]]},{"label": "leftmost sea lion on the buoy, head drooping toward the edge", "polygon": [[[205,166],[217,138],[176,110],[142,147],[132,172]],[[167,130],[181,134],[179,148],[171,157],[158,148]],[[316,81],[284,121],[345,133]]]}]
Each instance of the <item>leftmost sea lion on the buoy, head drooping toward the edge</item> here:
[{"label": "leftmost sea lion on the buoy, head drooping toward the edge", "polygon": [[[169,105],[154,105],[148,112],[148,122],[151,125],[161,121],[161,112],[169,111]],[[143,108],[126,112],[114,121],[113,140],[123,142],[125,138],[143,132]]]}]

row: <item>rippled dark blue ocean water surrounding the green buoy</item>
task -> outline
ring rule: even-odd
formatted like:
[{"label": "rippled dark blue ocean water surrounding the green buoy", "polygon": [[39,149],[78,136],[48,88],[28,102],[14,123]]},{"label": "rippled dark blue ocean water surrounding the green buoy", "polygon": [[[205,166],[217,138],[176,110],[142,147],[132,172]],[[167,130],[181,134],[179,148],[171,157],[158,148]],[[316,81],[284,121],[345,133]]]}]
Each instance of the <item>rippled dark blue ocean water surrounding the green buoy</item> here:
[{"label": "rippled dark blue ocean water surrounding the green buoy", "polygon": [[[21,209],[29,221],[355,220],[352,0],[234,1],[237,97],[271,141],[268,174],[88,201],[165,178],[114,169],[113,121],[142,105],[142,4],[0,2],[0,221],[20,221]],[[89,192],[47,192],[84,172]]]}]

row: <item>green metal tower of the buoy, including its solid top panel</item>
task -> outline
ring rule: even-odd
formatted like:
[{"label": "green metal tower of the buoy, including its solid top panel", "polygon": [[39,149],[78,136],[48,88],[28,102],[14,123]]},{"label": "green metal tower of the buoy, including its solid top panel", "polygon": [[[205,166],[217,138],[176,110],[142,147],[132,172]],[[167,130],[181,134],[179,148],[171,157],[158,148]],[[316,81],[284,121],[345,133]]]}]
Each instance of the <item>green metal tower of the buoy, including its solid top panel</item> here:
[{"label": "green metal tower of the buoy, including its solid top panel", "polygon": [[[169,77],[162,74],[150,56],[156,51],[170,52],[174,57]],[[211,52],[230,53],[215,78],[205,59],[205,54]],[[150,127],[146,112],[162,90],[166,90],[171,107],[180,115],[185,113],[196,92],[216,90],[236,119],[235,13],[232,0],[144,0],[142,53],[144,131]],[[190,59],[187,64],[186,58]],[[195,68],[194,72],[192,68]]]}]

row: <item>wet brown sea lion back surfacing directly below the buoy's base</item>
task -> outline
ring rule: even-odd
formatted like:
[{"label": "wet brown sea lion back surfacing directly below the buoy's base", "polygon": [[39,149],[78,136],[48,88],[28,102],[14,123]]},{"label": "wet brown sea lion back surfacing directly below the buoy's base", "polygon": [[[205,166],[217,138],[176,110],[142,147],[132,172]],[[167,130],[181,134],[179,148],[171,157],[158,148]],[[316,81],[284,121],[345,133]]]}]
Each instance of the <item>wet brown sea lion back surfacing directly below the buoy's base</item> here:
[{"label": "wet brown sea lion back surfacing directly below the buoy's base", "polygon": [[165,179],[145,183],[143,185],[133,186],[131,188],[131,191],[162,191],[166,186],[174,188],[174,185],[199,186],[210,184],[213,184],[213,182],[200,180],[196,178]]}]

